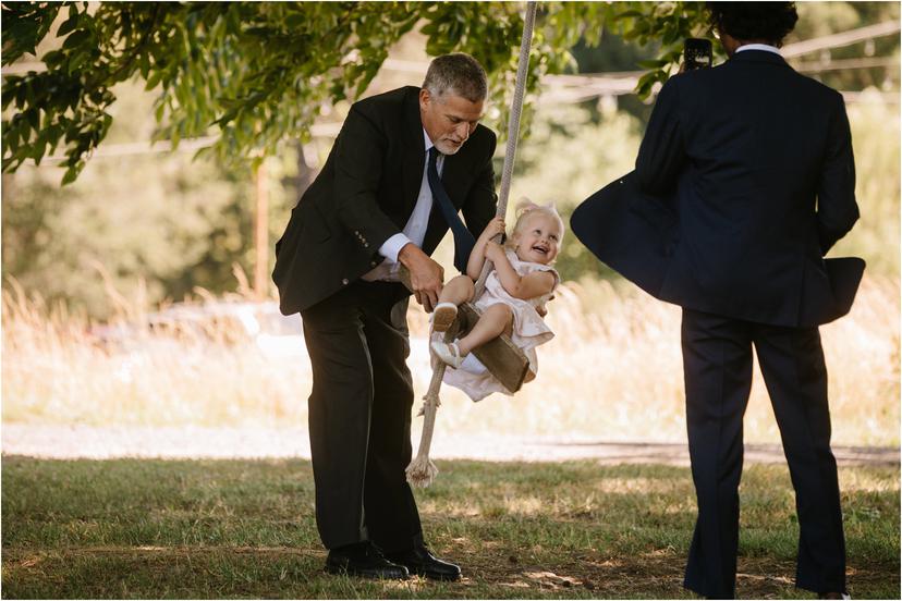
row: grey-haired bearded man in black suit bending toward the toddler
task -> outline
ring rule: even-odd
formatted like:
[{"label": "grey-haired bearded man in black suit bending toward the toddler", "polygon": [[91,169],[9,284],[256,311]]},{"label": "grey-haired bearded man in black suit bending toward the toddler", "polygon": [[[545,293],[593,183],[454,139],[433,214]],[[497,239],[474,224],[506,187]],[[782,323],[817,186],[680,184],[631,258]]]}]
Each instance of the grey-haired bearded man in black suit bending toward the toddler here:
[{"label": "grey-haired bearded man in black suit bending toward the toddler", "polygon": [[330,573],[460,577],[425,547],[405,480],[410,293],[398,270],[430,311],[443,270],[429,255],[449,221],[465,257],[459,234],[478,236],[495,216],[496,136],[478,124],[486,96],[483,68],[455,53],[431,62],[422,88],[356,102],[277,244],[280,308],[301,312],[313,368],[316,519]]}]

